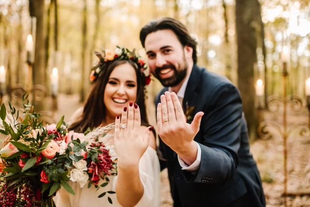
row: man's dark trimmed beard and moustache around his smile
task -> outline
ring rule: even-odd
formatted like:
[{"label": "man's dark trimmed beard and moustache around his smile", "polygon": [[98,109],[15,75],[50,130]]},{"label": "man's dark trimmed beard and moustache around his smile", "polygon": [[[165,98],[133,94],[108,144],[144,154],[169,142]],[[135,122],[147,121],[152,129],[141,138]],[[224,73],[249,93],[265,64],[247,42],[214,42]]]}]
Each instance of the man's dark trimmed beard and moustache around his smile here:
[{"label": "man's dark trimmed beard and moustache around his smile", "polygon": [[[182,68],[181,68],[181,67],[182,67]],[[160,71],[161,71],[162,69],[167,69],[167,68],[172,69],[172,70],[174,71],[174,73],[173,73],[173,75],[172,75],[171,77],[162,79],[162,78],[160,77]],[[187,74],[187,63],[186,63],[186,61],[184,60],[184,61],[183,61],[183,64],[180,65],[180,68],[179,68],[178,70],[177,70],[177,69],[175,68],[175,66],[172,65],[172,64],[165,64],[165,65],[162,66],[162,67],[157,67],[157,68],[155,69],[155,75],[154,75],[154,76],[155,76],[155,78],[157,78],[157,79],[160,81],[160,83],[161,83],[163,86],[165,86],[165,87],[173,87],[173,86],[176,86],[176,85],[178,85],[179,83],[181,83],[182,80],[185,79],[186,74]]]}]

